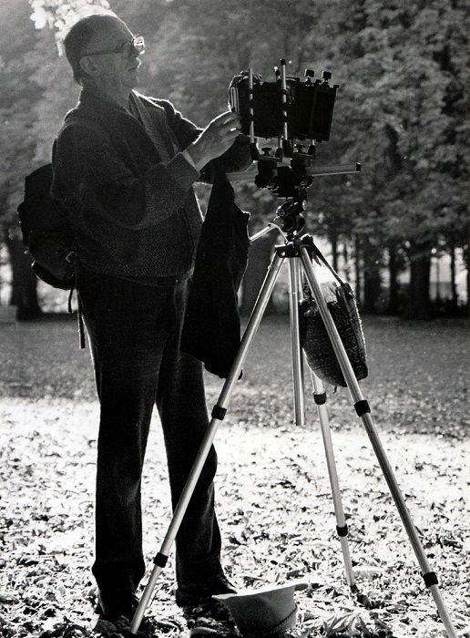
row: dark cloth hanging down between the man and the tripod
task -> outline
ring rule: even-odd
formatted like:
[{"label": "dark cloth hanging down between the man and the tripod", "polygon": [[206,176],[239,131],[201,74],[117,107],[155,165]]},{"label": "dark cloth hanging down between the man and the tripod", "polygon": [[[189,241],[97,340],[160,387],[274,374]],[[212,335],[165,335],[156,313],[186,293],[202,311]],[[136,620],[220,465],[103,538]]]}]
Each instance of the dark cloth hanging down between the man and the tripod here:
[{"label": "dark cloth hanging down between the man and the tripod", "polygon": [[235,204],[225,175],[218,175],[199,237],[180,347],[224,378],[240,347],[237,293],[248,261],[249,218]]}]

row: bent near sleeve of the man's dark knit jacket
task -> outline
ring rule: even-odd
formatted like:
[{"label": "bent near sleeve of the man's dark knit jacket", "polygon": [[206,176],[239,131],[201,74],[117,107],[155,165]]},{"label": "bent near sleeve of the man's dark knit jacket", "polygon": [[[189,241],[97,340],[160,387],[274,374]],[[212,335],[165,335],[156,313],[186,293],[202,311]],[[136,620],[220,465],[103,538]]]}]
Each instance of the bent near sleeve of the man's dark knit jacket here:
[{"label": "bent near sleeve of the man's dark knit jacket", "polygon": [[[181,153],[143,174],[129,170],[104,132],[72,123],[60,132],[53,149],[51,194],[79,210],[129,230],[168,219],[187,199],[196,170]],[[74,207],[75,207],[74,206]]]}]

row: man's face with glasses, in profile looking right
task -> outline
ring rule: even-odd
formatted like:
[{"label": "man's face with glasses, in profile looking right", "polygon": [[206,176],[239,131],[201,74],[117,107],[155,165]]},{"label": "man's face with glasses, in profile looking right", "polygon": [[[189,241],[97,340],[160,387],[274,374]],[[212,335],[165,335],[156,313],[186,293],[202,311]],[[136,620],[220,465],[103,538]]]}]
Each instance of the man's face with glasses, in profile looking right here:
[{"label": "man's face with glasses, in profile looking right", "polygon": [[[97,67],[97,73],[94,75],[98,80],[108,86],[136,86],[140,60],[138,50],[130,45],[132,37],[128,26],[112,16],[97,29],[85,47],[82,57],[87,56]],[[110,53],[95,53],[100,51]]]}]

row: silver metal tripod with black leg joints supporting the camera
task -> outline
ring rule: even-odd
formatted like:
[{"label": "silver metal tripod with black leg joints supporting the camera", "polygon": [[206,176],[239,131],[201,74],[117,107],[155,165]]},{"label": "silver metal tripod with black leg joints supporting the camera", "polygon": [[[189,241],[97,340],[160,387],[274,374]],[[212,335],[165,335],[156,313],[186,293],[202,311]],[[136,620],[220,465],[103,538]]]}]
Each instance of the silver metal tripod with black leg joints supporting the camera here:
[{"label": "silver metal tripod with black leg joints supporting the camera", "polygon": [[[165,539],[163,540],[158,554],[154,558],[154,567],[150,574],[148,584],[145,588],[145,591],[131,622],[131,633],[138,632],[138,627],[142,621],[148,603],[150,602],[152,592],[155,589],[158,575],[167,564],[169,551],[177,536],[179,526],[181,524],[181,521],[183,520],[186,509],[188,508],[189,500],[191,499],[192,493],[196,487],[205,460],[208,457],[209,449],[216,435],[217,428],[219,427],[220,421],[223,420],[227,413],[228,407],[230,405],[230,397],[232,391],[237,383],[237,380],[240,377],[241,368],[249,351],[252,340],[258,330],[259,325],[261,324],[261,318],[264,314],[268,301],[270,300],[274,284],[276,283],[281,270],[281,265],[287,260],[289,265],[290,278],[290,320],[295,422],[297,425],[303,424],[305,410],[303,393],[303,358],[301,353],[301,337],[299,327],[301,278],[305,277],[310,286],[312,298],[317,304],[319,313],[322,317],[322,322],[331,341],[333,351],[340,364],[342,375],[344,376],[350,395],[353,399],[355,412],[357,416],[360,417],[363,421],[363,426],[365,427],[366,433],[371,441],[375,456],[377,457],[379,465],[383,471],[383,477],[388,484],[395,506],[398,509],[398,513],[400,514],[400,517],[404,524],[404,529],[406,530],[408,538],[413,546],[414,554],[422,571],[424,584],[431,591],[435,605],[437,607],[437,611],[439,612],[442,622],[444,623],[447,636],[449,638],[456,638],[455,628],[446,610],[441,592],[438,587],[437,576],[435,572],[431,570],[431,567],[424,554],[424,549],[421,540],[419,539],[418,533],[414,527],[414,522],[410,516],[408,509],[406,508],[404,497],[401,493],[400,488],[398,487],[396,479],[394,478],[393,469],[386,457],[382,443],[373,425],[371,408],[367,400],[363,397],[358,381],[354,375],[353,367],[349,361],[346,350],[344,349],[344,345],[342,344],[342,339],[338,334],[338,330],[332,319],[332,314],[330,314],[328,305],[323,297],[321,284],[318,282],[315,270],[312,266],[312,237],[309,235],[301,236],[301,229],[304,225],[304,221],[301,216],[302,208],[304,208],[304,203],[297,200],[286,201],[278,209],[277,219],[281,219],[281,232],[287,231],[287,235],[284,235],[285,243],[283,245],[277,246],[275,249],[274,256],[268,268],[268,273],[266,274],[266,278],[262,283],[258,299],[253,307],[249,322],[241,338],[240,348],[230,369],[230,374],[222,387],[216,405],[212,409],[209,429],[199,448],[198,455],[194,461],[193,467],[191,468],[189,478],[181,493],[178,505],[174,510],[173,518],[169,524],[169,529],[167,531]],[[265,232],[269,232],[273,226],[277,226],[277,224],[270,224],[266,229],[254,235],[251,238],[251,241],[258,239]],[[346,581],[351,587],[353,587],[354,575],[348,544],[348,529],[345,523],[344,513],[342,509],[340,486],[332,450],[332,437],[328,423],[328,413],[325,405],[326,394],[322,386],[322,381],[313,373],[311,374],[313,396],[315,404],[317,405],[319,419],[322,427],[323,445],[325,448],[328,472],[332,487],[332,499],[336,515],[336,530],[342,546],[342,556],[345,566]]]}]

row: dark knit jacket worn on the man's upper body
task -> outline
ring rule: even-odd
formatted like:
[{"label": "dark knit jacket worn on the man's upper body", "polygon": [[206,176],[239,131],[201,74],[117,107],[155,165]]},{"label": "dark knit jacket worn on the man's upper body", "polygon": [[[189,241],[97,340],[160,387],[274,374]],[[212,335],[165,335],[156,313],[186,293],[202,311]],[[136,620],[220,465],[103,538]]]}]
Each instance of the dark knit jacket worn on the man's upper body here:
[{"label": "dark knit jacket worn on the man's upper body", "polygon": [[[198,137],[168,101],[133,98],[169,149]],[[162,161],[137,118],[84,89],[57,136],[53,168],[52,196],[68,211],[82,265],[142,283],[188,276],[202,224],[192,190],[199,171],[180,152]]]}]

